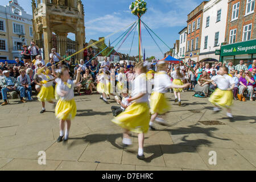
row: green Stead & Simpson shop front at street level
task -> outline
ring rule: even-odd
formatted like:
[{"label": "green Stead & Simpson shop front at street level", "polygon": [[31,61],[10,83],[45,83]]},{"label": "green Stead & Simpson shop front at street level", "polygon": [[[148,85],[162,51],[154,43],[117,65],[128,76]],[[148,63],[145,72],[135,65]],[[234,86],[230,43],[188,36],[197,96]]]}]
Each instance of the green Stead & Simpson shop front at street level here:
[{"label": "green Stead & Simpson shop front at street level", "polygon": [[232,61],[234,65],[243,63],[250,65],[256,59],[256,39],[228,44],[221,46],[220,60],[222,63],[228,64]]}]

